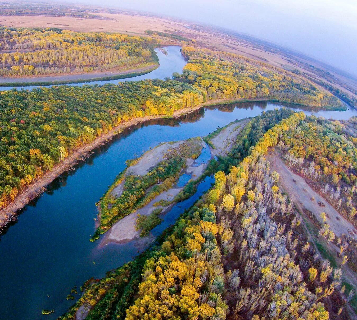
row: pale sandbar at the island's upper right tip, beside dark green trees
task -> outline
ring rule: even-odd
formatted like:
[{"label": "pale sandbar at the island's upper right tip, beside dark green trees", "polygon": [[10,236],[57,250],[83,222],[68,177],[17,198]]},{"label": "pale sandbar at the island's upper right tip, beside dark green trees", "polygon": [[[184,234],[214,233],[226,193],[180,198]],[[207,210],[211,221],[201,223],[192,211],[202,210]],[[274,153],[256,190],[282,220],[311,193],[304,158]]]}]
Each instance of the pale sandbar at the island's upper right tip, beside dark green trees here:
[{"label": "pale sandbar at the island's upper right tip, beside dark green trees", "polygon": [[226,156],[231,150],[233,143],[237,140],[237,135],[250,119],[243,119],[224,128],[217,136],[211,139],[215,149],[211,149],[211,157],[216,155]]}]

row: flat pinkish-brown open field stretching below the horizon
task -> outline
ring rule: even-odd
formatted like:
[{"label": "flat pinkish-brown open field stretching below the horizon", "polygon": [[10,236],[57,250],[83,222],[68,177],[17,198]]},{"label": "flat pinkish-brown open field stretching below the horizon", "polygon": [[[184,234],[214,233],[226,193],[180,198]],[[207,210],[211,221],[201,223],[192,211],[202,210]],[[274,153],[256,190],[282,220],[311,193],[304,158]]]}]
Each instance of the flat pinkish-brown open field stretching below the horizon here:
[{"label": "flat pinkish-brown open field stretching below the horizon", "polygon": [[[261,48],[258,42],[251,43],[241,38],[226,35],[209,26],[203,27],[198,24],[192,24],[191,22],[134,13],[110,14],[101,12],[99,15],[107,17],[108,20],[52,16],[0,16],[0,25],[9,27],[56,27],[83,32],[121,32],[137,36],[144,36],[145,30],[150,29],[153,31],[176,33],[183,37],[196,40],[198,46],[208,47],[213,50],[234,52],[287,70],[300,69],[300,71],[310,73],[311,76],[311,72],[299,67],[302,63],[313,64],[316,68],[326,70],[326,65],[318,63],[317,61],[309,61],[306,57],[298,56],[298,54],[294,56],[291,52],[288,53],[289,57],[287,57],[281,50],[273,49],[273,52],[267,52]],[[356,80],[345,77],[333,69],[328,69],[328,71],[333,74],[340,83],[345,83],[353,92],[357,92]],[[316,75],[314,75],[314,77],[319,78]],[[322,78],[319,79],[323,80]],[[324,81],[327,82],[326,80]],[[340,86],[336,81],[333,85],[357,98],[354,93]]]}]

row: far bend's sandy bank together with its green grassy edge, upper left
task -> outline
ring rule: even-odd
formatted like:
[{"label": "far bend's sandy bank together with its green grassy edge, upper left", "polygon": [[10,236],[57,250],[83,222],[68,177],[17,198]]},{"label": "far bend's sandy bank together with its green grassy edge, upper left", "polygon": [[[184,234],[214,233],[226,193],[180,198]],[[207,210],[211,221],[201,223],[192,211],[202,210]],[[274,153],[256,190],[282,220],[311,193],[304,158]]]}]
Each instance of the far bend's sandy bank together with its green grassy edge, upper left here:
[{"label": "far bend's sandy bank together with its green grassy edge, upper left", "polygon": [[[109,81],[142,76],[154,71],[160,66],[159,63],[144,63],[136,68],[116,69],[110,71],[94,71],[89,73],[63,74],[60,76],[12,78],[16,82],[9,82],[10,78],[0,78],[0,87],[27,87],[27,86],[50,86],[57,84],[87,83],[92,81]],[[52,80],[51,80],[52,79]],[[53,80],[54,79],[54,80]]]}]

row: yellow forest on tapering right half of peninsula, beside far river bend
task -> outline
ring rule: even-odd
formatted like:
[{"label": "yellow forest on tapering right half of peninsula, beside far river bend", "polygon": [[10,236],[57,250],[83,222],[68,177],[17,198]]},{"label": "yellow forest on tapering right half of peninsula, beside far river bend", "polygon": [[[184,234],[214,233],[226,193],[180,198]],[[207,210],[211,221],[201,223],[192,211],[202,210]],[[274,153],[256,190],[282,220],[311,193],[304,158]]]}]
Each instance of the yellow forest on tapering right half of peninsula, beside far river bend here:
[{"label": "yellow forest on tapering right half of peninsula, beside far river bend", "polygon": [[181,81],[204,90],[209,99],[266,98],[318,107],[342,108],[330,93],[321,92],[305,78],[267,63],[228,52],[182,47],[188,63]]}]

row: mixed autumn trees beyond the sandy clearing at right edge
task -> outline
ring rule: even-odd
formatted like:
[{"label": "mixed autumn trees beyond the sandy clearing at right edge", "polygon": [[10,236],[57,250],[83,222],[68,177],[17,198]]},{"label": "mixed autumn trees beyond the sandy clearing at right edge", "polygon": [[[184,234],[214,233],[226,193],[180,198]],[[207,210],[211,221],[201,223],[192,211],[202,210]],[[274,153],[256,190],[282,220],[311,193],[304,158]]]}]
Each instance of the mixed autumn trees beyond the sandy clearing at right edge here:
[{"label": "mixed autumn trees beyond the sandy clearing at right edge", "polygon": [[312,115],[284,133],[279,146],[288,166],[356,226],[357,136],[349,125],[356,130],[354,118],[340,122]]}]

